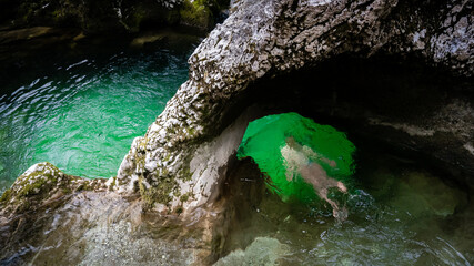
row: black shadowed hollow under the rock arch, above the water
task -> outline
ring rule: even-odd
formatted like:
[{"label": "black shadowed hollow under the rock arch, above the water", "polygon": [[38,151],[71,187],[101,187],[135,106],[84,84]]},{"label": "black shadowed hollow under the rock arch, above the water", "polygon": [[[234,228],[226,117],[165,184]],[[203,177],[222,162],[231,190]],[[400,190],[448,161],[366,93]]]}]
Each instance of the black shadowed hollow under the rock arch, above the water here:
[{"label": "black shadowed hollow under the rock arch, above the water", "polygon": [[221,121],[226,126],[245,110],[251,120],[296,112],[472,190],[472,84],[415,57],[341,55],[286,74],[270,72],[238,95]]}]

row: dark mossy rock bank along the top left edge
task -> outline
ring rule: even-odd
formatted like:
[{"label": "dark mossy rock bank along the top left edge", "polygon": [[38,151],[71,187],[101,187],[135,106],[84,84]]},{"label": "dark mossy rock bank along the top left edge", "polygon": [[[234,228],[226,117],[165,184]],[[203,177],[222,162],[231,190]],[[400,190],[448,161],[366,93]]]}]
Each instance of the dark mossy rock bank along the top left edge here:
[{"label": "dark mossy rock bank along the top left edge", "polygon": [[[209,30],[225,0],[107,1],[107,0],[6,0],[0,22],[13,28],[34,25],[75,27],[88,33],[138,32],[178,23]],[[8,18],[8,19],[7,19]]]}]

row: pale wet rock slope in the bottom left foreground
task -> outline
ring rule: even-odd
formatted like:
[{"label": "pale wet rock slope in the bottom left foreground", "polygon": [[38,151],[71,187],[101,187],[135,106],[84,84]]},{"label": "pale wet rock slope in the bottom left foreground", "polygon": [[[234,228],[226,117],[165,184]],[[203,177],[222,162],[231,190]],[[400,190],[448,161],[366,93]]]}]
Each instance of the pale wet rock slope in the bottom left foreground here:
[{"label": "pale wet rock slope in the bottom left foreground", "polygon": [[199,265],[209,253],[192,228],[167,226],[143,215],[140,201],[109,191],[74,193],[16,219],[0,219],[1,265]]}]

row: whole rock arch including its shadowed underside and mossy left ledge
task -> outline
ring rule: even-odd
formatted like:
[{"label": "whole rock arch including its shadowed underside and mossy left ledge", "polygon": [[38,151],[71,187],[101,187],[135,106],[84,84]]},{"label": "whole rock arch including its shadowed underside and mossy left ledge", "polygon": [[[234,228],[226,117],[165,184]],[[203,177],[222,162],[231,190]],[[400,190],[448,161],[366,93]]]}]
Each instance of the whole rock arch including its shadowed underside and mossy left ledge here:
[{"label": "whole rock arch including its shadowed underside and mossy left ledge", "polygon": [[130,198],[133,215],[124,203],[115,216],[135,224],[145,219],[138,208],[200,222],[199,256],[213,262],[224,232],[212,223],[225,231],[232,217],[222,218],[229,214],[223,184],[233,178],[245,127],[286,111],[423,153],[472,190],[472,8],[460,0],[233,1],[230,17],[189,59],[189,80],[133,141],[117,177],[85,183],[38,164],[2,196],[0,224],[18,225],[10,233],[21,235],[19,214],[95,191],[94,198]]}]

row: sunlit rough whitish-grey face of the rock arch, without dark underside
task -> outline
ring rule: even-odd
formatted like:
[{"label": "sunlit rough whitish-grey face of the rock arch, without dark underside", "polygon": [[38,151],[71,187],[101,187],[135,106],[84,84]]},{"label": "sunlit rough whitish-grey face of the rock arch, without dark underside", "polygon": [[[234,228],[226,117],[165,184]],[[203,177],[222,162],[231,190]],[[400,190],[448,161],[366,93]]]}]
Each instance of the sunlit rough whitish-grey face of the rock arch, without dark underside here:
[{"label": "sunlit rough whitish-grey face of the rock arch, without dark underside", "polygon": [[118,172],[121,190],[134,190],[131,183],[137,182],[142,195],[161,207],[209,203],[245,127],[236,125],[245,122],[231,124],[225,115],[249,84],[262,76],[314,66],[343,53],[371,57],[376,52],[416,53],[426,64],[471,76],[472,1],[410,4],[397,0],[233,1],[230,17],[189,59],[190,79],[147,135],[133,142]]}]

